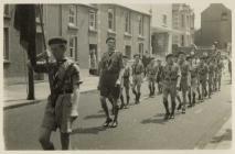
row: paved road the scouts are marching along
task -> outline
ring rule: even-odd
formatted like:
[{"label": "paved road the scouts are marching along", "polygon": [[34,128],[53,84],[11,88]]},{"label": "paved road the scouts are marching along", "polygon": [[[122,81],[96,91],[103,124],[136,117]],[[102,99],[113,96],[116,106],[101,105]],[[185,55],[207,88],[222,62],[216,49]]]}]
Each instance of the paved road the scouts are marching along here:
[{"label": "paved road the scouts are marching along", "polygon": [[[147,86],[143,91],[147,94]],[[74,124],[73,150],[192,150],[202,148],[231,117],[231,85],[223,82],[222,91],[212,99],[189,109],[185,116],[163,121],[161,96],[145,99],[138,106],[120,111],[119,125],[104,129],[98,92],[81,96],[79,118]],[[4,111],[7,150],[41,150],[38,132],[45,103]],[[61,148],[58,132],[52,135]]]}]

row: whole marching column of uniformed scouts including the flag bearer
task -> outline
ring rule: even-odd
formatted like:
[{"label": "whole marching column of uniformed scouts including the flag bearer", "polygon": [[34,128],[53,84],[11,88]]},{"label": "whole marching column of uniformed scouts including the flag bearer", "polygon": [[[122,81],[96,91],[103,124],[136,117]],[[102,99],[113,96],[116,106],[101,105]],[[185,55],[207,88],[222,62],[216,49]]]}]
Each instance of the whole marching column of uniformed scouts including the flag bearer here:
[{"label": "whole marching column of uniformed scouts including the flag bearer", "polygon": [[[186,100],[189,100],[188,107],[193,107],[196,103],[196,96],[199,101],[203,101],[205,97],[211,98],[213,92],[221,90],[224,66],[220,53],[213,57],[202,56],[199,61],[194,53],[186,55],[179,52],[168,54],[165,65],[161,59],[157,59],[156,65],[156,59],[151,58],[147,67],[143,66],[140,55],[136,54],[130,67],[128,57],[116,51],[115,37],[108,37],[106,44],[107,52],[103,54],[99,63],[97,87],[102,108],[106,114],[104,127],[116,128],[118,125],[118,111],[128,108],[130,88],[135,96],[135,103],[140,103],[145,74],[149,84],[149,97],[156,94],[156,82],[159,95],[162,94],[165,109],[164,120],[174,118],[175,108],[185,113]],[[83,81],[81,81],[78,65],[66,57],[67,41],[64,37],[53,37],[49,41],[49,46],[50,51],[38,55],[36,63],[29,64],[34,72],[49,74],[52,89],[45,107],[39,141],[44,150],[54,150],[50,141],[51,133],[60,129],[62,150],[68,150],[72,124],[78,117],[79,86]],[[54,61],[46,61],[50,53]],[[171,110],[169,109],[169,96]],[[107,100],[111,103],[111,110],[108,109]],[[114,118],[110,117],[109,111]]]}]

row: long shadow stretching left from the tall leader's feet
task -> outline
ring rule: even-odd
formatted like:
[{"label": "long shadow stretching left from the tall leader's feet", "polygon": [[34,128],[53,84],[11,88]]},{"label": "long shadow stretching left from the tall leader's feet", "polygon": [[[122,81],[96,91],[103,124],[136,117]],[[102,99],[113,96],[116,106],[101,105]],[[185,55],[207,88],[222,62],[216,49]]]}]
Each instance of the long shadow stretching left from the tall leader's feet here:
[{"label": "long shadow stretching left from the tall leader's feet", "polygon": [[72,134],[98,134],[100,131],[105,131],[104,127],[94,127],[94,128],[77,128],[73,130]]}]

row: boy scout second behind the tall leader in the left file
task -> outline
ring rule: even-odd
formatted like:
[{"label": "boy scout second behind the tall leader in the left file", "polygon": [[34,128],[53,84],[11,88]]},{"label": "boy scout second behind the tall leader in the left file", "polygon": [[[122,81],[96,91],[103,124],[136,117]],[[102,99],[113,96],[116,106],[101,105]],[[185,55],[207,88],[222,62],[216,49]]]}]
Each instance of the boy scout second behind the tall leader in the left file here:
[{"label": "boy scout second behind the tall leader in the left file", "polygon": [[[136,54],[133,55],[135,62],[131,66],[132,69],[132,92],[136,96],[136,103],[139,103],[140,99],[140,88],[142,84],[142,76],[143,76],[143,65],[140,61],[140,55]],[[137,91],[136,91],[137,89]]]}]

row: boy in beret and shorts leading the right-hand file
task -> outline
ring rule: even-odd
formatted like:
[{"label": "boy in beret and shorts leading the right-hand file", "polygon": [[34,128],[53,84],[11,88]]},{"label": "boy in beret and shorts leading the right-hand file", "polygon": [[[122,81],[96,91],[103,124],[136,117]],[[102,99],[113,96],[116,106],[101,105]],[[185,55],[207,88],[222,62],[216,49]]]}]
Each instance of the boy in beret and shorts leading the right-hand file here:
[{"label": "boy in beret and shorts leading the right-hand file", "polygon": [[[180,88],[181,73],[178,64],[173,62],[173,55],[168,54],[167,65],[163,68],[163,105],[165,109],[164,120],[174,118],[175,96]],[[171,97],[171,112],[169,111],[168,96]]]}]

